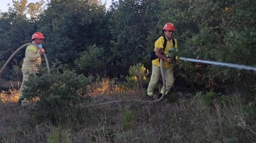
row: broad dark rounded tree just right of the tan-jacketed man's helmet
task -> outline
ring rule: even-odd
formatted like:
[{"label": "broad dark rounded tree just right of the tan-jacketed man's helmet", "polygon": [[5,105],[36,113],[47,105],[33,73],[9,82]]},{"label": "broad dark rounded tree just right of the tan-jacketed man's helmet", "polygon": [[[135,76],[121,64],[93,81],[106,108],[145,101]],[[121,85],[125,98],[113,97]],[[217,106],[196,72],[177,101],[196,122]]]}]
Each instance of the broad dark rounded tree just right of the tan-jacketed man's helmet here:
[{"label": "broad dark rounded tree just right of the tan-jacketed man's helmet", "polygon": [[[74,67],[74,61],[96,44],[109,51],[111,36],[106,26],[105,7],[97,0],[50,1],[40,17],[39,31],[47,37],[44,47],[63,64]],[[103,38],[104,36],[104,38]]]}]

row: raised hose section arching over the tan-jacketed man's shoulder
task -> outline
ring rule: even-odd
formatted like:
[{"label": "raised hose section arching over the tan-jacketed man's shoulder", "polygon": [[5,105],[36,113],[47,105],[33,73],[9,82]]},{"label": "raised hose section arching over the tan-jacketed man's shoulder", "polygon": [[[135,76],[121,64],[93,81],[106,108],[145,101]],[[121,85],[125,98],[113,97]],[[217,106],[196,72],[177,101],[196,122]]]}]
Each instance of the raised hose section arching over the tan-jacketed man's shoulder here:
[{"label": "raised hose section arching over the tan-jacketed man's shoulder", "polygon": [[[0,70],[0,78],[1,78],[1,75],[2,73],[4,72],[6,66],[8,65],[8,63],[13,59],[13,57],[24,47],[28,46],[28,45],[35,45],[39,50],[41,49],[41,47],[39,47],[37,44],[34,44],[34,43],[27,43],[27,44],[24,44],[22,46],[20,46],[12,55],[11,57],[6,61],[5,65],[1,68]],[[48,63],[48,59],[47,59],[47,56],[45,53],[43,53],[43,56],[44,56],[44,59],[45,59],[45,62],[46,62],[46,67],[48,68],[48,73],[50,73],[50,68],[49,68],[49,63]]]}]

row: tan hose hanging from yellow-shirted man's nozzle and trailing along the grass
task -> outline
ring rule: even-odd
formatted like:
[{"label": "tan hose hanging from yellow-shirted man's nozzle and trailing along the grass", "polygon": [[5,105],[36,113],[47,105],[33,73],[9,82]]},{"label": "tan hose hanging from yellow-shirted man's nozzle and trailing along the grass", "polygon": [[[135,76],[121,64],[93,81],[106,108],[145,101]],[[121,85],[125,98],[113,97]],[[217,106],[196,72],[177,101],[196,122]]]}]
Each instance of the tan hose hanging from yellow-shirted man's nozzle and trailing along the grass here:
[{"label": "tan hose hanging from yellow-shirted man's nozzle and trailing along the grass", "polygon": [[97,106],[97,105],[106,105],[106,104],[120,103],[120,102],[140,102],[140,103],[156,103],[156,102],[159,102],[159,101],[161,101],[165,97],[165,91],[166,91],[165,76],[164,76],[164,71],[162,69],[162,59],[160,59],[160,69],[161,69],[161,75],[162,75],[162,82],[163,82],[164,92],[163,92],[162,96],[159,99],[157,99],[157,100],[153,100],[153,101],[145,101],[145,100],[115,100],[115,101],[109,101],[109,102],[105,102],[105,103],[85,105],[83,107],[91,107],[91,106]]}]

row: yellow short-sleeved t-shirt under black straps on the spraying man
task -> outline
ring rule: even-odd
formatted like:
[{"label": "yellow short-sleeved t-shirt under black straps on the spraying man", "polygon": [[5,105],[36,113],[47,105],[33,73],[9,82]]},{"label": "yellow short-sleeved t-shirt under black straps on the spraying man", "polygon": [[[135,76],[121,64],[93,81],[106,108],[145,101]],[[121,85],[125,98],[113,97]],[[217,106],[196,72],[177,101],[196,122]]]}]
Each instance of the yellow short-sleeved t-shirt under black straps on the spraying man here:
[{"label": "yellow short-sleeved t-shirt under black straps on the spraying man", "polygon": [[[178,48],[177,40],[175,38],[173,38],[173,39],[175,41],[175,47],[174,48]],[[164,39],[163,36],[161,36],[160,38],[158,38],[155,41],[155,48],[164,48],[164,42],[165,42],[165,39]],[[170,48],[173,48],[172,39],[171,40],[167,39],[166,48],[165,48],[164,54],[168,55]],[[154,49],[154,51],[155,51],[155,49]],[[158,67],[160,67],[159,58],[152,60],[152,64],[157,65]],[[163,65],[162,66],[163,66],[163,68],[168,68],[168,67],[171,67],[172,65],[168,64],[167,61],[163,60]]]}]

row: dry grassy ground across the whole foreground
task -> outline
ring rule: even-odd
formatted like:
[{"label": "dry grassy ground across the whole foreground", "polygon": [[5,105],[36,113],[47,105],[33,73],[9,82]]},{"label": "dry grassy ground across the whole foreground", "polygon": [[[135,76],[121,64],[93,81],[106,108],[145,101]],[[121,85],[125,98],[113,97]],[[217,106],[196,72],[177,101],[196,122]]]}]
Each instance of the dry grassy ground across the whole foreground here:
[{"label": "dry grassy ground across the whole foreground", "polygon": [[36,119],[32,112],[36,101],[21,109],[16,102],[18,91],[2,92],[0,142],[256,142],[254,103],[243,105],[236,96],[224,100],[200,92],[176,92],[154,104],[122,102],[84,107],[111,100],[144,99],[140,90],[92,93],[83,105],[67,108],[61,123],[53,124]]}]

